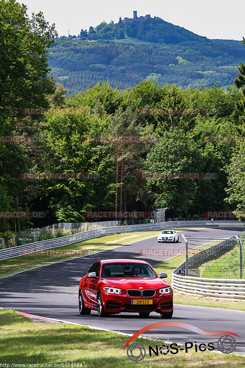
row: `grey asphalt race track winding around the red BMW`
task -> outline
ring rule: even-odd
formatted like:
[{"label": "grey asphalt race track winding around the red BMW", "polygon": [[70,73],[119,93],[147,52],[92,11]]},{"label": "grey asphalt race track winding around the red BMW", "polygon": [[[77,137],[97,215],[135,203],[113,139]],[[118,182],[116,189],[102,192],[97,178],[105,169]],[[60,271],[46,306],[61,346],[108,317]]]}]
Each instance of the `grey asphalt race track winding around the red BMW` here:
[{"label": "grey asphalt race track winding around the red BMW", "polygon": [[[242,229],[234,228],[178,231],[179,234],[212,238],[230,237],[242,232]],[[13,276],[3,277],[0,279],[0,307],[124,333],[136,333],[141,328],[158,322],[184,322],[209,332],[228,331],[236,333],[241,337],[235,336],[237,341],[235,353],[245,355],[245,312],[174,305],[174,314],[171,319],[162,319],[157,313],[151,313],[148,318],[140,318],[138,314],[130,313],[99,318],[96,311],[92,311],[89,316],[79,314],[79,281],[97,259],[145,259],[154,266],[171,258],[171,256],[140,256],[139,251],[161,248],[185,249],[181,236],[180,242],[177,244],[158,243],[157,238],[154,237],[129,245],[122,245],[114,250],[53,263]],[[162,272],[164,271],[162,269]],[[188,341],[193,344],[194,342],[208,344],[209,342],[217,343],[221,335],[203,336],[182,328],[162,327],[149,330],[145,336],[169,340],[169,342],[183,343]],[[128,339],[125,336],[125,343]]]}]

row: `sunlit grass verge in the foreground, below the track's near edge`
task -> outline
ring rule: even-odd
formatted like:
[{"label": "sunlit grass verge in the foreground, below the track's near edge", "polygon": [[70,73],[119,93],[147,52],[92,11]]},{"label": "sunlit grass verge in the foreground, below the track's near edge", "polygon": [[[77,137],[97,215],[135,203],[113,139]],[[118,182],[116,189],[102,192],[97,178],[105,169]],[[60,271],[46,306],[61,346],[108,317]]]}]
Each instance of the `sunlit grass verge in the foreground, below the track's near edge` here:
[{"label": "sunlit grass verge in the foreground, below the track's near edge", "polygon": [[[127,357],[123,346],[129,339],[117,333],[89,329],[68,324],[35,323],[14,311],[0,311],[0,363],[1,364],[82,364],[83,368],[129,368],[136,366]],[[148,351],[148,346],[162,342],[135,339]],[[141,368],[242,368],[245,357],[209,351],[176,355],[167,354],[145,358],[137,365]]]}]

